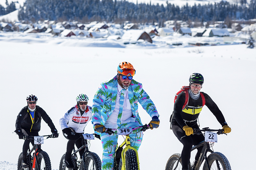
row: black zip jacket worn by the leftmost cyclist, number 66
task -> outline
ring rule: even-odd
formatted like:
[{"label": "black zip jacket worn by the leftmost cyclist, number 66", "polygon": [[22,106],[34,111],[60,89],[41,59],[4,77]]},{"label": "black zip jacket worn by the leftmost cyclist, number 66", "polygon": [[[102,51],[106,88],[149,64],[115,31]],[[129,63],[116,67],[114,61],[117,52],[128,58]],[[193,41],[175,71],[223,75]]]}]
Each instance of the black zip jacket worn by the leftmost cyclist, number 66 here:
[{"label": "black zip jacket worn by the leftmost cyclist, number 66", "polygon": [[[34,113],[34,124],[32,124],[32,120],[30,117],[30,113],[28,111],[28,106],[25,106],[20,110],[19,115],[16,119],[16,130],[24,129],[29,132],[39,132],[41,129],[41,120],[44,120],[51,128],[52,133],[56,130],[54,124],[52,123],[52,119],[46,114],[46,112],[39,106],[36,106],[36,110]],[[56,130],[57,131],[57,130]]]}]

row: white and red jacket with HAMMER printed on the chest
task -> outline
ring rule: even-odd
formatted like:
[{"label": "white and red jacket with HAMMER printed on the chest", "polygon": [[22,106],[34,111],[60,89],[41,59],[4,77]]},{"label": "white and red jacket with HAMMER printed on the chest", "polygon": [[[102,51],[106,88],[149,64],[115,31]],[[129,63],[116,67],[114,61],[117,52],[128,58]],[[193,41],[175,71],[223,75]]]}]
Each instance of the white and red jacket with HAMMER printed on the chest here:
[{"label": "white and red jacket with HAMMER printed on the chest", "polygon": [[76,133],[84,133],[84,128],[91,118],[91,106],[86,106],[84,114],[81,116],[81,112],[77,108],[77,105],[74,105],[60,118],[60,128],[61,130],[72,128]]}]

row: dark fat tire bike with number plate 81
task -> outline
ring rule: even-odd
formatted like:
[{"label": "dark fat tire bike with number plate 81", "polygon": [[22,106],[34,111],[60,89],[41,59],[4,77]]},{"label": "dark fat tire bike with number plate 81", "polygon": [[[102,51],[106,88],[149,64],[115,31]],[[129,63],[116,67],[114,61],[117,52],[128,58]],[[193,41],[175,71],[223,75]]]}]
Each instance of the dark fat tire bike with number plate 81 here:
[{"label": "dark fat tire bike with number plate 81", "polygon": [[[100,139],[100,135],[97,135],[95,133],[85,134],[85,135],[94,135],[95,138]],[[84,138],[84,137],[81,135],[81,138]],[[96,153],[89,151],[88,145],[90,145],[90,141],[88,141],[87,139],[84,139],[84,140],[85,140],[85,144],[83,146],[81,146],[80,148],[78,148],[77,150],[75,150],[75,148],[74,148],[73,153],[71,154],[71,160],[75,167],[75,168],[73,168],[73,170],[101,170],[100,157]],[[83,148],[85,148],[85,150],[83,153],[82,162],[80,163],[80,162],[78,162],[80,157],[78,158],[76,153],[81,151]],[[69,168],[66,167],[65,155],[66,154],[64,154],[60,159],[59,170],[69,170]]]}]

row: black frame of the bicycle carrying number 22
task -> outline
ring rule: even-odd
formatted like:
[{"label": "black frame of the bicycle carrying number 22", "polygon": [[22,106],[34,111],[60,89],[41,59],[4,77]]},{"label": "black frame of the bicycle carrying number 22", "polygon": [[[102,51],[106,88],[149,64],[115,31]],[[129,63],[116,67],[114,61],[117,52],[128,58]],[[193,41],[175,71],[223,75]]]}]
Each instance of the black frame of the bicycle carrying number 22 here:
[{"label": "black frame of the bicycle carrying number 22", "polygon": [[[208,169],[210,169],[209,162],[208,162],[206,154],[207,154],[207,152],[211,152],[212,153],[213,151],[210,149],[209,142],[203,141],[203,142],[193,146],[192,149],[191,149],[191,152],[194,151],[195,149],[201,147],[201,146],[203,146],[203,149],[202,149],[200,157],[199,157],[199,159],[197,161],[195,170],[199,170],[199,168],[200,168],[200,166],[201,166],[201,164],[202,164],[204,159],[205,159],[205,162],[206,162],[206,164],[208,166]],[[189,167],[189,169],[190,169],[190,167]]]}]

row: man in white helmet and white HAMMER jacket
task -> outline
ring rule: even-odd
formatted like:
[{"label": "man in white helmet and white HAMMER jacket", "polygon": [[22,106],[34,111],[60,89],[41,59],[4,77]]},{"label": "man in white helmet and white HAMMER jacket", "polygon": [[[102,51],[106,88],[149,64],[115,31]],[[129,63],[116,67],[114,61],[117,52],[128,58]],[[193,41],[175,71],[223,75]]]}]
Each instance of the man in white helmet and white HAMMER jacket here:
[{"label": "man in white helmet and white HAMMER jacket", "polygon": [[[66,167],[69,169],[74,168],[71,161],[71,153],[76,144],[77,148],[84,145],[83,138],[80,138],[80,134],[84,133],[84,128],[88,124],[89,120],[92,118],[92,107],[87,106],[89,101],[88,96],[80,94],[76,97],[77,104],[72,106],[64,115],[60,118],[60,127],[65,138],[68,139],[67,151],[65,155]],[[79,151],[80,160],[82,161],[82,156],[84,149]],[[79,166],[79,165],[78,165]]]}]

